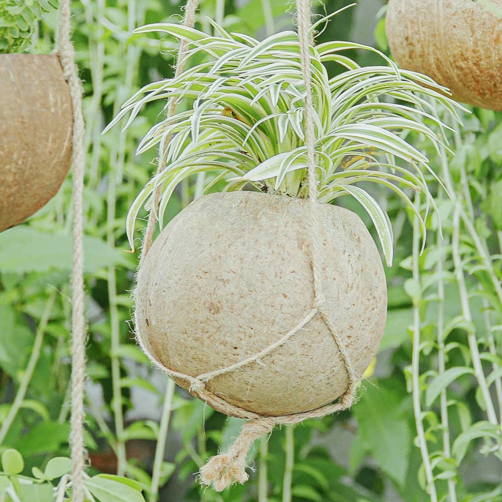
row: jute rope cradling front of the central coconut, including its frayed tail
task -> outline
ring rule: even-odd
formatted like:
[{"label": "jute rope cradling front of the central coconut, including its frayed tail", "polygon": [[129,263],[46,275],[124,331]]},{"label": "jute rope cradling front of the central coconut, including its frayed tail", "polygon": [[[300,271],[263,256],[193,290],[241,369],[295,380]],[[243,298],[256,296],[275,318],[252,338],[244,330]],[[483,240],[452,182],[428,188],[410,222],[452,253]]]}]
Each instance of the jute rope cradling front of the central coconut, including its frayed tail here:
[{"label": "jute rope cradling front of the central coconut, including its frayed tail", "polygon": [[[300,41],[300,59],[302,66],[302,75],[305,82],[306,97],[305,97],[305,142],[307,147],[308,159],[308,183],[309,183],[309,208],[312,223],[311,233],[311,260],[312,260],[312,273],[314,282],[315,299],[314,305],[310,312],[306,314],[299,323],[286,335],[280,338],[277,342],[262,350],[252,357],[248,357],[240,362],[232,364],[231,366],[220,368],[210,371],[199,376],[190,376],[176,371],[172,371],[165,367],[163,364],[155,360],[149,353],[141,340],[141,336],[137,336],[138,341],[144,352],[150,357],[153,363],[168,374],[171,378],[187,382],[190,386],[190,392],[205,401],[212,408],[220,411],[226,415],[248,419],[240,432],[239,437],[227,450],[226,453],[216,455],[209,459],[209,461],[200,470],[200,478],[202,484],[211,485],[217,491],[221,491],[229,486],[232,482],[243,483],[248,479],[246,473],[246,455],[253,444],[263,434],[269,433],[276,425],[297,424],[309,418],[320,418],[326,415],[336,413],[341,410],[350,408],[355,399],[355,392],[357,382],[360,380],[355,372],[350,359],[348,357],[345,344],[340,338],[336,329],[334,328],[329,316],[326,314],[326,301],[322,293],[322,270],[319,261],[319,221],[317,217],[317,170],[316,170],[316,154],[315,154],[315,129],[314,117],[315,113],[313,108],[313,94],[312,94],[312,78],[310,74],[310,46],[313,44],[311,29],[311,1],[310,0],[297,0],[297,18],[298,18],[298,35]],[[181,51],[181,48],[180,48]],[[157,199],[156,199],[157,200]],[[155,207],[155,206],[154,206]],[[154,210],[150,212],[150,217],[155,218]],[[155,219],[153,219],[155,224]],[[149,219],[150,224],[150,219]],[[152,228],[153,234],[153,228]],[[149,234],[147,232],[147,238]],[[151,237],[150,237],[151,239]],[[144,255],[148,252],[151,240],[145,241]],[[140,263],[141,266],[141,263]],[[263,416],[247,410],[243,410],[238,406],[231,405],[224,399],[209,391],[206,384],[208,381],[214,379],[216,376],[234,371],[246,364],[259,361],[261,357],[276,350],[278,347],[284,345],[291,337],[299,333],[307,323],[314,317],[319,316],[326,326],[328,327],[334,342],[336,343],[340,355],[342,357],[345,370],[347,373],[347,389],[343,396],[337,402],[318,408],[316,410],[297,413],[292,415],[284,415],[278,417]],[[138,325],[138,323],[136,323]]]}]

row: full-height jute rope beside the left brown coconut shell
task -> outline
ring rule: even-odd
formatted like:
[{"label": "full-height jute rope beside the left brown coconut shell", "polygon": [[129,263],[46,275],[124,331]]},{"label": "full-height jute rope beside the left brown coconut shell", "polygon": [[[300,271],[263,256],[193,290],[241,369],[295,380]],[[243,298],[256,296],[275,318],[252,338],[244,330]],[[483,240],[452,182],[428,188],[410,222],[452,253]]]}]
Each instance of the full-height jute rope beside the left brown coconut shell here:
[{"label": "full-height jute rope beside the left brown coconut shell", "polygon": [[84,501],[84,384],[85,384],[85,314],[83,252],[83,190],[85,152],[83,150],[84,118],[82,84],[75,65],[75,49],[71,41],[70,0],[61,0],[61,14],[56,44],[63,74],[68,82],[73,110],[73,269],[71,317],[71,418],[70,447],[72,458],[72,500]]}]

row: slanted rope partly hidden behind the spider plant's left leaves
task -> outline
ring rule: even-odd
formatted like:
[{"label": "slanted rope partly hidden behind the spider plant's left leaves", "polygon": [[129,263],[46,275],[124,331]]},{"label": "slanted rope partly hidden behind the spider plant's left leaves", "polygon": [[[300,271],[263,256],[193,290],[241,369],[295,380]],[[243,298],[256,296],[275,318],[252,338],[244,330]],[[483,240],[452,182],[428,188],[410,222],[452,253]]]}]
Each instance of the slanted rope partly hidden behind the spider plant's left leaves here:
[{"label": "slanted rope partly hidden behind the spider plant's left leaves", "polygon": [[[195,13],[197,12],[197,8],[199,6],[199,0],[188,0],[185,6],[185,19],[183,20],[183,24],[188,28],[193,28],[195,25]],[[176,69],[174,72],[174,76],[179,77],[183,72],[183,68],[185,67],[185,53],[188,48],[188,41],[182,40],[180,43],[180,48],[178,50],[178,59],[176,60]],[[169,111],[167,113],[167,118],[170,118],[174,115],[176,111],[176,100],[171,99],[169,104]],[[161,147],[159,149],[159,166],[157,167],[156,174],[164,171],[166,167],[166,151],[167,146],[169,145],[171,137],[169,136],[166,140],[161,143]],[[148,223],[147,229],[145,230],[145,238],[143,240],[141,258],[140,258],[140,267],[143,264],[150,247],[152,246],[152,241],[154,237],[155,224],[157,223],[157,210],[159,209],[159,198],[160,198],[160,187],[157,188],[154,192],[154,200],[152,207],[150,209],[150,213],[148,215]]]}]

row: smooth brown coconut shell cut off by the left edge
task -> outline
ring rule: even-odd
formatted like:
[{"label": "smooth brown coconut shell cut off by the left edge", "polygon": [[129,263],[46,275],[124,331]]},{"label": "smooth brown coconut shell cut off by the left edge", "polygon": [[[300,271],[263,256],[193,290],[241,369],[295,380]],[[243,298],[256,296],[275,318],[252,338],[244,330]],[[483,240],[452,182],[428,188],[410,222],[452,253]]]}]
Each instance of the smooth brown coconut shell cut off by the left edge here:
[{"label": "smooth brown coconut shell cut off by the left edge", "polygon": [[70,90],[56,55],[0,55],[0,231],[58,191],[71,166]]}]

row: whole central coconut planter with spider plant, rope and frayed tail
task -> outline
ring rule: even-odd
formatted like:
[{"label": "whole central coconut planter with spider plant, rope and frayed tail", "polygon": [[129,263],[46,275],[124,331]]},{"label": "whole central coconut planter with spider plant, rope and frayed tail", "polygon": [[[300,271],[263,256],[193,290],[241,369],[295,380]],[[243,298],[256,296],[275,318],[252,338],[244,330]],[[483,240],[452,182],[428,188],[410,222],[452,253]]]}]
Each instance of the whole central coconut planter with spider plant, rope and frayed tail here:
[{"label": "whole central coconut planter with spider plant, rope and frayed tail", "polygon": [[[192,24],[194,4],[186,10]],[[249,446],[276,424],[353,403],[384,332],[386,280],[362,220],[331,202],[348,195],[360,203],[391,264],[390,220],[367,184],[397,192],[425,231],[406,191],[430,200],[421,171],[428,160],[403,137],[420,131],[436,147],[441,142],[423,123],[425,100],[415,93],[455,105],[431,78],[402,74],[384,54],[386,65],[368,69],[339,54],[360,45],[309,48],[308,5],[298,2],[299,34],[262,42],[216,24],[217,37],[173,24],[138,29],[186,42],[179,61],[187,50],[209,57],[140,90],[109,126],[128,113],[130,124],[146,102],[170,99],[169,113],[138,149],[159,146],[158,172],[127,219],[134,247],[137,216],[150,205],[136,333],[180,386],[248,419],[229,450],[201,469],[202,482],[216,490],[247,479]],[[329,79],[327,61],[344,71]],[[381,100],[385,93],[400,103]],[[187,96],[190,108],[175,113]],[[193,175],[206,190],[219,183],[222,193],[199,196],[150,247],[156,218],[163,221],[177,185]]]}]

